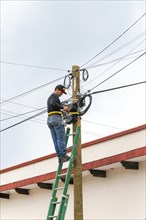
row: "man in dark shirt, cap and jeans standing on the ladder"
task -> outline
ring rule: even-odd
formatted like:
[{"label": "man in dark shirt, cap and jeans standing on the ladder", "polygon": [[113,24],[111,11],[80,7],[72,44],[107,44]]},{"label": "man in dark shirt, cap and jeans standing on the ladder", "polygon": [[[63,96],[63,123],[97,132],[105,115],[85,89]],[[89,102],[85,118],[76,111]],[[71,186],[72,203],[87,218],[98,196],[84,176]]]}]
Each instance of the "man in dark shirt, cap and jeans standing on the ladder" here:
[{"label": "man in dark shirt, cap and jeans standing on the ladder", "polygon": [[63,106],[59,97],[62,94],[67,94],[63,85],[57,85],[54,93],[52,93],[47,100],[48,120],[47,124],[50,128],[54,147],[59,158],[59,163],[64,163],[70,160],[66,155],[66,142],[65,142],[65,127],[62,121],[62,112],[68,112],[68,106]]}]

